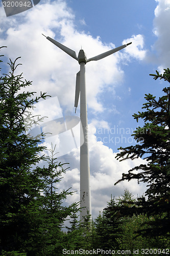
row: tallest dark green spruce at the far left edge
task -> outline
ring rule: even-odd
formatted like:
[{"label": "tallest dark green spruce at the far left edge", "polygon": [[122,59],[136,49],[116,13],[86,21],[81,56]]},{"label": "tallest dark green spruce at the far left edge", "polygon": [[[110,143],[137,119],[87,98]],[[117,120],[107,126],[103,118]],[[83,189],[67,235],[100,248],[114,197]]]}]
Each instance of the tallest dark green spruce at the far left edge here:
[{"label": "tallest dark green spruce at the far left edge", "polygon": [[31,82],[14,74],[17,59],[10,60],[11,71],[0,78],[0,248],[5,250],[17,250],[28,239],[30,218],[37,210],[35,205],[30,212],[30,207],[39,196],[41,177],[40,169],[32,169],[32,165],[43,159],[38,155],[43,150],[38,146],[40,140],[25,133],[23,113],[46,95],[31,99],[34,93],[18,93]]}]

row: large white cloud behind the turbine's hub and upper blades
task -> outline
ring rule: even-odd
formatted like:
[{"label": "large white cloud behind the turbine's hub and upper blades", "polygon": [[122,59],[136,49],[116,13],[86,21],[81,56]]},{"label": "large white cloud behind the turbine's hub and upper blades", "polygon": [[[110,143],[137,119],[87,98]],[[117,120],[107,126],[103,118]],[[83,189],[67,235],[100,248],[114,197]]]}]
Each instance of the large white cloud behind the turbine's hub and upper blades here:
[{"label": "large white cloud behind the turbine's hub and upper blades", "polygon": [[[1,19],[0,39],[1,45],[8,46],[6,56],[12,59],[21,56],[23,65],[18,72],[23,72],[25,78],[33,80],[31,90],[58,96],[60,103],[71,110],[74,106],[76,73],[80,66],[75,59],[46,40],[41,33],[55,38],[77,54],[82,46],[88,58],[118,47],[112,43],[104,44],[99,36],[93,38],[89,33],[77,31],[74,18],[74,13],[65,1],[39,4],[19,15],[8,18],[4,16]],[[142,36],[133,36],[131,39],[135,51],[128,50],[128,54],[141,59],[144,54]],[[93,111],[103,111],[97,96],[104,86],[105,89],[114,87],[123,81],[124,71],[119,63],[122,58],[127,59],[125,50],[106,59],[87,63],[87,99],[88,106]]]}]

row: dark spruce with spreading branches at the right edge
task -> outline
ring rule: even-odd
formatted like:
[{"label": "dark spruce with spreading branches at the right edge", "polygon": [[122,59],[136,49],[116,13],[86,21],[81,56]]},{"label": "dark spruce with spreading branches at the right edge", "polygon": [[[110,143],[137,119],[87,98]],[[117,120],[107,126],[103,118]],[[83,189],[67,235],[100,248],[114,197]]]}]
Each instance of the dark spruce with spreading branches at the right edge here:
[{"label": "dark spruce with spreading branches at the right edge", "polygon": [[169,199],[170,199],[170,70],[164,69],[163,74],[156,71],[151,74],[155,80],[163,79],[168,82],[168,87],[163,88],[163,96],[156,99],[152,94],[145,94],[143,112],[134,114],[133,117],[143,119],[143,127],[137,127],[132,136],[136,140],[136,145],[122,148],[116,158],[120,161],[126,159],[142,158],[147,163],[140,164],[130,169],[128,174],[123,174],[124,180],[136,179],[138,182],[147,183],[147,190],[144,198],[139,200],[138,210],[148,215],[154,216],[150,221],[150,226],[143,232],[153,236],[169,236]]}]

